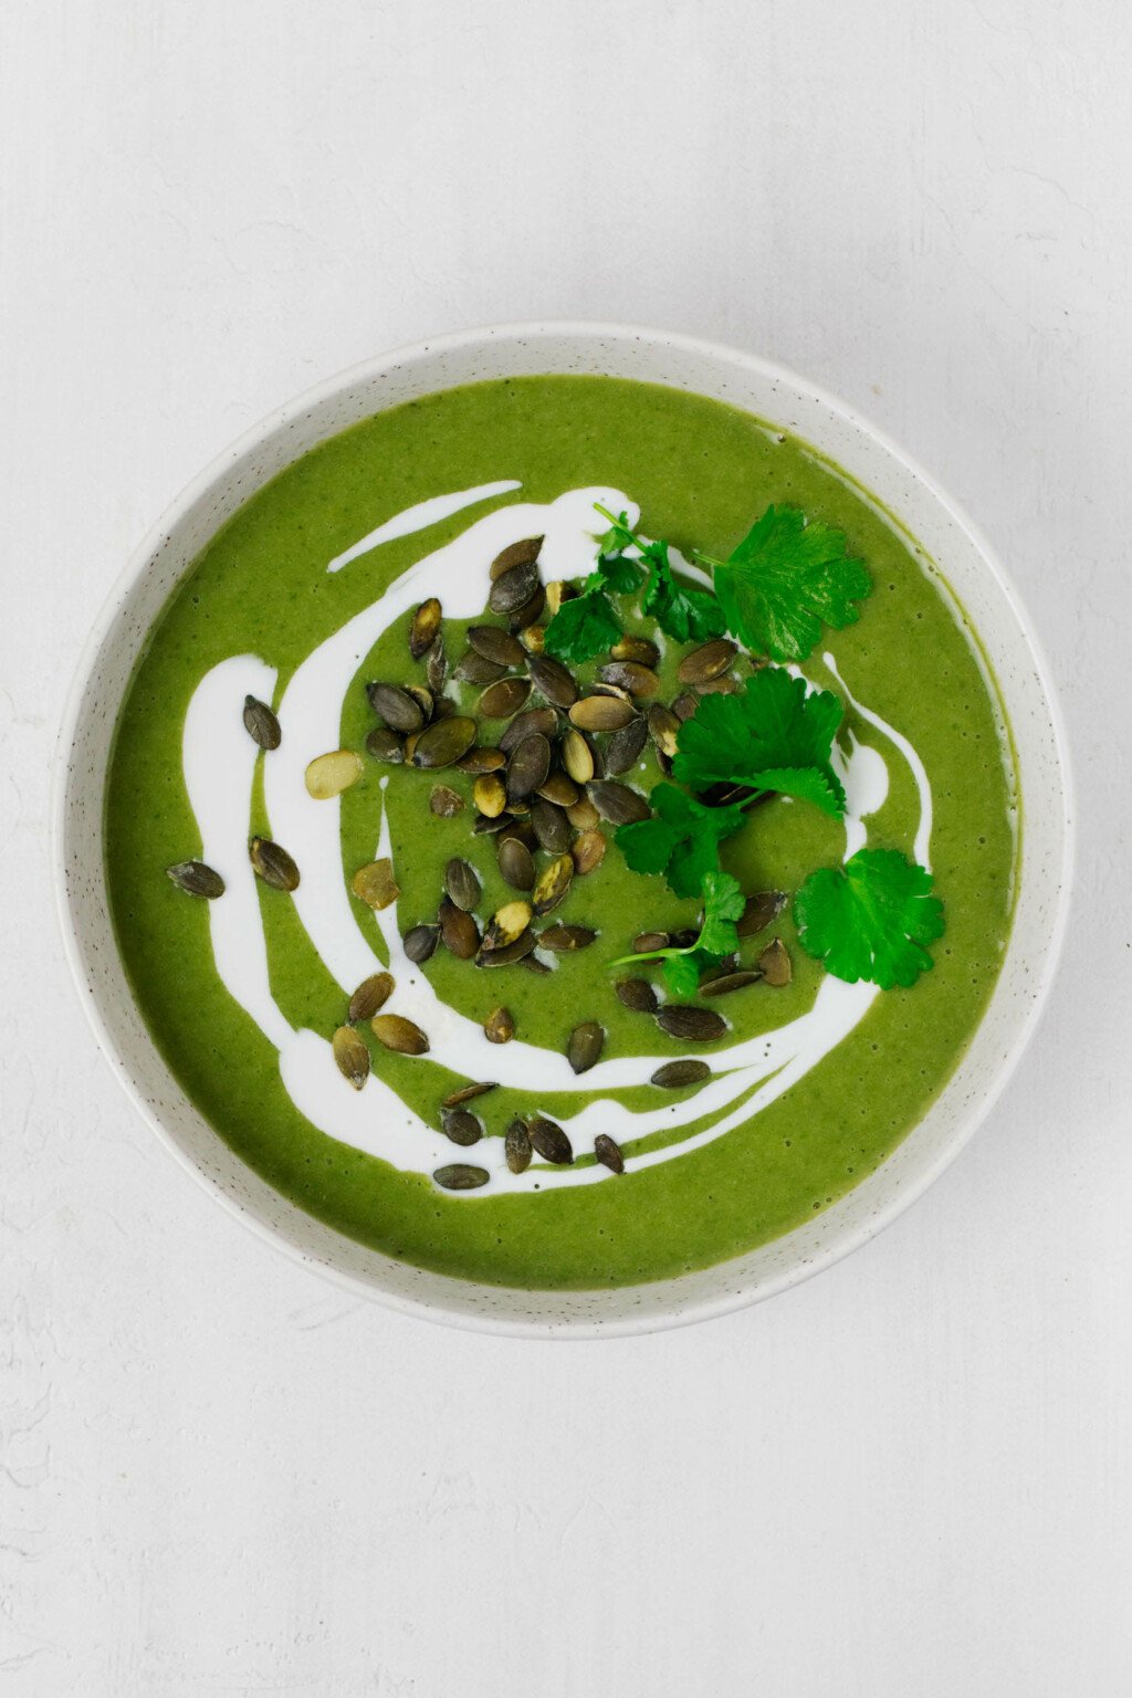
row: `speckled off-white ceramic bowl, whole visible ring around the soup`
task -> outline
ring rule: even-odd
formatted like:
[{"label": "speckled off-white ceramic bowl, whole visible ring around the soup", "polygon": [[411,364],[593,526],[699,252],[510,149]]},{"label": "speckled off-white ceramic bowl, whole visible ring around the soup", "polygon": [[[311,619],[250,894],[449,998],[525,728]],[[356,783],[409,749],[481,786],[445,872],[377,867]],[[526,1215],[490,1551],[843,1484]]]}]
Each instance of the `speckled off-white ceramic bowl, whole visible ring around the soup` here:
[{"label": "speckled off-white ceramic bowl, whole visible ring around the soup", "polygon": [[[745,408],[815,443],[871,491],[966,610],[998,681],[1023,796],[1022,880],[1003,971],[962,1065],[920,1126],[855,1190],[784,1238],[703,1274],[619,1290],[511,1290],[428,1274],[343,1238],[273,1192],[217,1138],[151,1044],[119,959],[102,868],[119,703],[153,620],[212,533],[290,460],[372,413],[457,384],[545,372],[642,379]],[[1027,796],[1040,796],[1040,808],[1025,810]],[[443,336],[355,367],[248,431],[188,486],[112,591],[70,698],[54,796],[75,980],[112,1068],[166,1148],[263,1238],[358,1296],[536,1336],[640,1333],[725,1314],[828,1267],[906,1209],[989,1112],[1034,1031],[1064,931],[1071,846],[1066,747],[1045,662],[1006,574],[954,503],[894,443],[801,377],[731,348],[618,324]]]}]

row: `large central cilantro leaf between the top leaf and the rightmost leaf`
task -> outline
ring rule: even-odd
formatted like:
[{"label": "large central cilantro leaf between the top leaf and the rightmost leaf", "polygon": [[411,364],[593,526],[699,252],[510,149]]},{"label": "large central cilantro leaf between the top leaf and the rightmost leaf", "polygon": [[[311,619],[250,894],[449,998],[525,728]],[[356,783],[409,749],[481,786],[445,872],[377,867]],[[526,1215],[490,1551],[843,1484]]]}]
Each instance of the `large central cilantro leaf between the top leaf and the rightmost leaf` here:
[{"label": "large central cilantro leaf between the top leaf and the rightmost leaf", "polygon": [[845,791],[830,766],[842,711],[828,689],[806,693],[803,678],[762,667],[742,694],[701,700],[681,725],[672,773],[692,790],[754,784],[842,815]]}]

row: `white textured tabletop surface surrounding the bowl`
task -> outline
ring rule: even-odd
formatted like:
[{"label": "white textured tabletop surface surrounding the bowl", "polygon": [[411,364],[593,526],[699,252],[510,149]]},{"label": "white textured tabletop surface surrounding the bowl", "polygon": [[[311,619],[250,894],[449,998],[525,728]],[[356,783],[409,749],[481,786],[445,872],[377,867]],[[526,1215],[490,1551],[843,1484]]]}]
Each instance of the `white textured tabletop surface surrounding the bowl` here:
[{"label": "white textured tabletop surface surrounding the bowl", "polygon": [[[1124,1698],[1127,8],[0,29],[5,1698]],[[95,1051],[46,837],[66,679],[166,499],[341,365],[536,316],[737,341],[905,441],[1023,589],[1083,825],[1052,1005],[935,1190],[764,1307],[572,1347],[346,1302],[210,1204]]]}]

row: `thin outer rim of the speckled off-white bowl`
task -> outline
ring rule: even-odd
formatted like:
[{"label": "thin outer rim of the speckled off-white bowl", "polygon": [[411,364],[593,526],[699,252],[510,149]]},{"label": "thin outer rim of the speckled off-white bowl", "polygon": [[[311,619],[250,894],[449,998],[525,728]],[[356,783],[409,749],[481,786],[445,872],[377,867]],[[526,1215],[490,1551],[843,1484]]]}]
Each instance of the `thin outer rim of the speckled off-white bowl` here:
[{"label": "thin outer rim of the speckled off-white bowl", "polygon": [[[380,377],[389,368],[401,363],[412,363],[426,355],[448,353],[468,350],[479,345],[492,341],[511,341],[511,340],[552,340],[552,338],[569,338],[575,336],[584,341],[645,341],[645,343],[662,343],[674,350],[684,350],[691,355],[701,355],[704,358],[716,358],[745,368],[750,374],[762,377],[771,384],[781,384],[784,387],[793,387],[806,394],[818,406],[823,406],[830,413],[837,414],[852,430],[871,438],[872,443],[883,448],[899,467],[903,467],[923,489],[933,498],[933,501],[944,509],[952,525],[966,535],[967,542],[978,552],[983,567],[996,581],[1010,613],[1025,640],[1025,645],[1034,661],[1034,671],[1040,693],[1045,700],[1049,711],[1049,723],[1052,732],[1052,745],[1061,771],[1062,781],[1062,822],[1061,822],[1061,885],[1056,897],[1056,905],[1051,915],[1049,941],[1042,954],[1040,973],[1032,985],[1032,995],[1028,998],[1027,1009],[1018,1020],[1015,1036],[1012,1039],[1010,1049],[1000,1061],[993,1082],[988,1090],[981,1095],[979,1102],[969,1109],[962,1117],[957,1129],[949,1136],[947,1143],[939,1150],[935,1160],[930,1161],[911,1182],[901,1185],[874,1214],[854,1226],[845,1229],[833,1241],[816,1250],[804,1262],[794,1267],[782,1268],[779,1274],[767,1277],[757,1287],[748,1290],[723,1290],[716,1296],[704,1297],[698,1304],[691,1304],[675,1311],[664,1311],[655,1314],[626,1314],[613,1319],[533,1319],[519,1316],[504,1314],[474,1314],[467,1311],[458,1311],[453,1307],[440,1307],[436,1302],[407,1296],[401,1292],[384,1290],[367,1280],[346,1272],[341,1267],[322,1262],[312,1257],[309,1251],[302,1250],[297,1243],[292,1243],[283,1233],[277,1231],[266,1221],[260,1219],[251,1211],[241,1207],[233,1195],[219,1184],[216,1177],[207,1173],[193,1156],[178,1143],[178,1139],[165,1127],[161,1117],[151,1109],[137,1082],[132,1078],[126,1061],[119,1054],[117,1044],[110,1036],[107,1022],[93,995],[87,993],[87,975],[85,964],[80,951],[78,941],[78,922],[71,908],[68,880],[66,880],[66,856],[64,856],[64,817],[68,788],[71,776],[71,749],[76,740],[80,713],[90,679],[95,669],[95,662],[102,652],[104,642],[109,637],[114,623],[119,616],[120,604],[129,594],[132,586],[137,582],[144,569],[154,559],[160,543],[170,531],[185,518],[192,506],[224,475],[224,472],[238,460],[241,460],[248,452],[256,448],[275,431],[287,426],[300,413],[311,411],[324,401],[333,399],[341,391],[365,384],[367,380]],[[647,382],[648,379],[642,379]],[[304,450],[305,452],[305,450]],[[818,450],[821,452],[821,450]],[[898,525],[903,525],[899,514],[893,514]],[[1025,796],[1022,798],[1025,810]],[[1023,815],[1025,817],[1025,815]],[[782,1290],[794,1285],[801,1285],[804,1280],[813,1279],[825,1268],[833,1267],[842,1262],[852,1251],[859,1250],[862,1245],[869,1243],[888,1226],[893,1224],[901,1214],[905,1214],[933,1184],[935,1180],[950,1167],[950,1163],[961,1155],[967,1143],[974,1138],[976,1131],[989,1117],[995,1105],[1000,1102],[1003,1092],[1010,1085],[1015,1071],[1022,1061],[1025,1049],[1028,1048],[1034,1031],[1042,1017],[1045,1002],[1049,998],[1051,987],[1057,975],[1061,963],[1061,954],[1064,949],[1068,919],[1071,908],[1071,891],[1073,891],[1073,873],[1076,861],[1076,786],[1073,761],[1069,754],[1069,737],[1066,730],[1064,713],[1059,700],[1057,688],[1052,679],[1052,671],[1049,659],[1045,655],[1044,644],[1037,635],[1025,603],[1017,589],[1017,584],[1003,565],[998,550],[991,545],[979,525],[976,525],[966,509],[940,486],[940,482],[915,458],[910,455],[886,430],[876,426],[871,419],[857,411],[855,406],[843,401],[840,396],[825,389],[821,384],[803,377],[787,365],[777,360],[765,358],[762,355],[748,353],[742,348],[735,348],[730,343],[715,341],[703,336],[689,336],[677,331],[660,329],[657,326],[621,323],[621,321],[601,321],[601,319],[519,319],[499,324],[480,324],[468,326],[465,329],[446,331],[440,336],[429,336],[416,340],[411,343],[402,343],[395,348],[385,350],[382,353],[370,355],[365,360],[358,360],[353,365],[343,367],[331,377],[302,391],[299,396],[285,401],[282,406],[273,408],[270,413],[263,414],[256,423],[243,430],[233,441],[227,443],[219,453],[216,453],[207,465],[192,477],[182,491],[175,496],[171,503],[163,509],[156,521],[146,530],[139,543],[129,554],[124,567],[115,576],[110,584],[102,606],[93,620],[93,625],[83,642],[80,655],[75,662],[75,672],[66,694],[63,713],[59,718],[59,730],[54,742],[54,751],[51,757],[51,801],[49,801],[49,832],[51,832],[51,883],[54,895],[54,912],[63,937],[63,953],[78,992],[78,1002],[85,1010],[90,1029],[93,1031],[97,1046],[110,1071],[117,1078],[119,1085],[126,1092],[134,1112],[141,1116],[146,1126],[156,1134],[163,1148],[177,1160],[177,1163],[188,1172],[197,1184],[214,1199],[219,1200],[224,1209],[239,1219],[244,1228],[253,1231],[261,1241],[273,1246],[275,1251],[285,1255],[289,1260],[317,1272],[322,1279],[351,1292],[355,1297],[365,1297],[372,1302],[380,1304],[385,1309],[394,1309],[401,1314],[412,1316],[417,1319],[431,1321],[433,1324],[455,1326],[462,1331],[475,1333],[494,1333],[501,1336],[518,1336],[518,1338],[569,1338],[569,1340],[587,1340],[587,1338],[621,1338],[621,1336],[638,1336],[645,1333],[657,1333],[675,1330],[682,1326],[691,1326],[699,1321],[716,1319],[735,1313],[737,1309],[745,1309],[755,1302],[764,1302],[767,1297],[774,1297]],[[1023,851],[1022,851],[1022,878],[1025,878],[1025,827],[1023,827]],[[915,1127],[908,1136],[913,1136]],[[219,1134],[216,1134],[219,1136]],[[725,1263],[726,1265],[726,1263]],[[480,1284],[480,1282],[470,1282]],[[674,1280],[672,1284],[679,1284]]]}]

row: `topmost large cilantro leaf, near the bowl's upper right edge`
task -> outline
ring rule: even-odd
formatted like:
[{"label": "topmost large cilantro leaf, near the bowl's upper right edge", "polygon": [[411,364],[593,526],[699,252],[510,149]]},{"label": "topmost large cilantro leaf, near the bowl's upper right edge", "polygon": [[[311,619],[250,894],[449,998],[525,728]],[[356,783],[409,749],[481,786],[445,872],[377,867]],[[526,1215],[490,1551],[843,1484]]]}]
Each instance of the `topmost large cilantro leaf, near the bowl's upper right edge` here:
[{"label": "topmost large cilantro leaf, near the bowl's upper right edge", "polygon": [[726,560],[699,552],[696,559],[715,567],[726,628],[772,661],[808,659],[821,625],[854,625],[854,603],[872,589],[843,531],[821,520],[806,523],[801,508],[771,506]]}]

